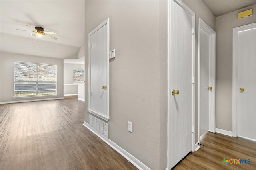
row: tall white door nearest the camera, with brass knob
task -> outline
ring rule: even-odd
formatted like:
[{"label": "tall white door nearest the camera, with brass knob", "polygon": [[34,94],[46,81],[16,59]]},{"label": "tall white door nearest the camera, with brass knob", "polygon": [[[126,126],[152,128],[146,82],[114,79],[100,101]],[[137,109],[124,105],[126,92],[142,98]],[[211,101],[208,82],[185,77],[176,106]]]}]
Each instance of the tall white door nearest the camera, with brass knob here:
[{"label": "tall white door nearest the camera, with brass knob", "polygon": [[193,150],[194,12],[182,1],[170,1],[169,22],[168,143],[169,168],[173,168]]}]

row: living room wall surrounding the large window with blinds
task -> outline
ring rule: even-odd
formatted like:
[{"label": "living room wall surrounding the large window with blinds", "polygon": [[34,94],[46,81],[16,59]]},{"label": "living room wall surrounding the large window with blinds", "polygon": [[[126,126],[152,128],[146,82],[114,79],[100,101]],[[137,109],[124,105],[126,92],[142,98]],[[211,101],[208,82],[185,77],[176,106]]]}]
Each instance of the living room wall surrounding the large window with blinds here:
[{"label": "living room wall surrounding the large window with blinds", "polygon": [[[57,65],[57,96],[13,98],[14,94],[14,62],[48,63]],[[37,100],[45,98],[63,98],[63,59],[38,57],[1,52],[1,102],[14,102],[20,100]]]}]

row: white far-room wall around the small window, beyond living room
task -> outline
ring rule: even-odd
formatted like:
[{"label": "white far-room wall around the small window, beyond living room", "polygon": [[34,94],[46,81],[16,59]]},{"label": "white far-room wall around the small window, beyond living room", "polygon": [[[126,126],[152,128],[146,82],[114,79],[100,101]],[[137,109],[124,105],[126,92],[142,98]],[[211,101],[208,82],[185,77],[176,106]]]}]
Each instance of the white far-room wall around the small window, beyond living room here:
[{"label": "white far-room wall around the small window, beyond living room", "polygon": [[74,84],[73,69],[84,69],[84,64],[64,63],[64,96],[78,94],[78,84]]}]

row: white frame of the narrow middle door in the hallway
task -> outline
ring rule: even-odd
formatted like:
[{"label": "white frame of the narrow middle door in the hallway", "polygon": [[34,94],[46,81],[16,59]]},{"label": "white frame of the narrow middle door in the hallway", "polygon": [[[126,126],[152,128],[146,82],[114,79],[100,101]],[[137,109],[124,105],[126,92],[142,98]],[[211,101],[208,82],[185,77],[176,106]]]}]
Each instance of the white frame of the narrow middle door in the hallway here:
[{"label": "white frame of the narrow middle door in the hallway", "polygon": [[[205,23],[201,18],[198,19],[198,143],[200,143],[200,61],[201,61],[201,55],[200,55],[200,43],[201,43],[201,29],[206,34],[210,34],[210,68],[209,68],[209,82],[211,82],[209,85],[211,85],[212,93],[210,96],[209,101],[209,131],[215,133],[215,127],[216,127],[216,119],[215,119],[215,97],[216,97],[216,32],[207,24]],[[195,144],[196,145],[196,144]]]}]

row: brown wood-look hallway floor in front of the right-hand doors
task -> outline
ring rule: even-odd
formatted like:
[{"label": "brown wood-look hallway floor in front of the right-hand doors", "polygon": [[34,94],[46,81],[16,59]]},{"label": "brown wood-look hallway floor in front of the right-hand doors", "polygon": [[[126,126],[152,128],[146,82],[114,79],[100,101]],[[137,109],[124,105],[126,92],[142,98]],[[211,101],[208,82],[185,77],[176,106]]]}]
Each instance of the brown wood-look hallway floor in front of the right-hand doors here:
[{"label": "brown wood-look hallway floor in front of the right-hand doors", "polygon": [[[174,170],[256,170],[256,142],[207,132],[201,137],[198,151],[189,154]],[[250,159],[250,164],[223,164],[223,158]]]}]

